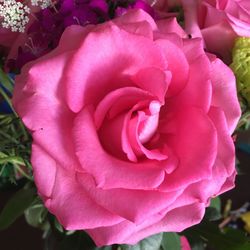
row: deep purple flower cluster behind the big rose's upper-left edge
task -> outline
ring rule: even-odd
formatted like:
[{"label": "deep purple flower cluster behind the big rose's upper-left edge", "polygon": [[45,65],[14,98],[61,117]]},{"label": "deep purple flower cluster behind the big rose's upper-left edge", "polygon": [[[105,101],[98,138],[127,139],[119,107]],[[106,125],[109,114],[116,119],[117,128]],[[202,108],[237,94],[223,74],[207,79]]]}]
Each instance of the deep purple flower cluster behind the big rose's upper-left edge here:
[{"label": "deep purple flower cluster behind the big rose's upper-left edge", "polygon": [[35,15],[25,41],[17,43],[9,55],[7,64],[11,69],[20,69],[54,49],[66,27],[97,24],[109,19],[105,0],[60,0],[55,8],[41,10]]}]

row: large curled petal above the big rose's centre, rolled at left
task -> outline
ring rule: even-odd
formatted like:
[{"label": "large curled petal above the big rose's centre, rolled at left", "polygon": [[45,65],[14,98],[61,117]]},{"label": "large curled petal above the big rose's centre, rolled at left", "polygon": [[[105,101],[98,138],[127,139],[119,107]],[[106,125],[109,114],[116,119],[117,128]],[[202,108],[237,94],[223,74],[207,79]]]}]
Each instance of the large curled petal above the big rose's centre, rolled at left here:
[{"label": "large curled petal above the big rose's centre, rolled at left", "polygon": [[142,67],[165,69],[165,60],[159,48],[150,39],[107,23],[96,32],[91,32],[66,69],[65,88],[69,107],[79,112],[86,104],[96,105],[114,89],[133,86],[128,76]]}]

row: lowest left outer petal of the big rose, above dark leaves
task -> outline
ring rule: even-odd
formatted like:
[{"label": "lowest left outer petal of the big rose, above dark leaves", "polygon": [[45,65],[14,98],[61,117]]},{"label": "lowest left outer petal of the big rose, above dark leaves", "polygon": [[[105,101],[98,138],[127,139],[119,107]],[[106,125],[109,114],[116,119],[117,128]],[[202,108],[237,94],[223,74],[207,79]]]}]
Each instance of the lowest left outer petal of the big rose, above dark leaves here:
[{"label": "lowest left outer petal of the big rose, above dark leaves", "polygon": [[77,183],[75,175],[60,165],[57,166],[53,194],[45,205],[67,230],[111,226],[123,221],[96,204]]}]

